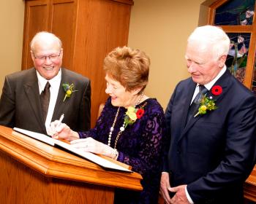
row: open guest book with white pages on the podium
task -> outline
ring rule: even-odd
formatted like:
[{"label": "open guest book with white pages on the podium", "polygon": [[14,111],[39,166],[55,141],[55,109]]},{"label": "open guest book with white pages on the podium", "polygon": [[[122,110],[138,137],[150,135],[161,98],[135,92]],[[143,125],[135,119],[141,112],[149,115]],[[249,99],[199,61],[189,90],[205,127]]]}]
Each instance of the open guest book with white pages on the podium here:
[{"label": "open guest book with white pages on the podium", "polygon": [[76,154],[80,157],[85,158],[86,160],[89,160],[91,162],[96,163],[97,165],[102,166],[102,168],[107,168],[107,169],[111,169],[111,170],[121,170],[121,171],[125,171],[125,172],[132,172],[131,167],[129,165],[125,165],[121,162],[117,162],[116,160],[111,160],[108,157],[99,156],[99,155],[93,154],[91,152],[83,152],[82,150],[76,149],[75,147],[72,147],[70,144],[68,144],[64,141],[56,140],[56,139],[50,138],[49,136],[46,136],[44,134],[20,129],[18,127],[14,127],[13,130],[15,130],[18,133],[22,133],[23,135],[37,139],[38,141],[42,141],[45,144],[49,144],[50,146],[61,147],[62,149],[65,149],[69,152],[72,152],[73,154]]}]

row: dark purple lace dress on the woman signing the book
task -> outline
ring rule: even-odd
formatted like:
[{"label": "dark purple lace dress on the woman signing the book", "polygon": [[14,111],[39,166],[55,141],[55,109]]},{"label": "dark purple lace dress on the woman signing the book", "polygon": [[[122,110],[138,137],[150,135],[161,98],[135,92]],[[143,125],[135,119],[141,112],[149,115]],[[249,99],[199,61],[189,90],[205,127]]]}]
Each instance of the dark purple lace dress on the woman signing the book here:
[{"label": "dark purple lace dress on the woman signing the book", "polygon": [[[146,103],[146,105],[145,105]],[[159,184],[162,171],[162,152],[165,145],[164,138],[164,113],[156,99],[148,98],[138,104],[136,108],[144,106],[143,117],[137,119],[132,125],[127,125],[118,138],[116,149],[118,161],[132,166],[132,170],[143,176],[142,192],[132,192],[116,189],[115,203],[157,203]],[[111,99],[97,120],[96,126],[86,132],[80,132],[80,138],[92,137],[97,141],[108,144],[110,127],[113,125],[118,107],[112,106]],[[119,110],[111,137],[111,147],[114,147],[119,128],[124,123],[124,107]]]}]

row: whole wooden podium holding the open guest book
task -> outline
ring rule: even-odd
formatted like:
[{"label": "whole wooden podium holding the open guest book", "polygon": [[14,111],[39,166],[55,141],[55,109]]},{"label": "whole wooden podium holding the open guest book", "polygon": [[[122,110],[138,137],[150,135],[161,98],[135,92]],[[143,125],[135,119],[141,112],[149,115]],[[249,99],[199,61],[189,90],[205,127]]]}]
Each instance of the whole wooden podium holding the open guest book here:
[{"label": "whole wooden podium holding the open guest book", "polygon": [[115,188],[140,191],[141,179],[0,125],[1,203],[113,203]]}]

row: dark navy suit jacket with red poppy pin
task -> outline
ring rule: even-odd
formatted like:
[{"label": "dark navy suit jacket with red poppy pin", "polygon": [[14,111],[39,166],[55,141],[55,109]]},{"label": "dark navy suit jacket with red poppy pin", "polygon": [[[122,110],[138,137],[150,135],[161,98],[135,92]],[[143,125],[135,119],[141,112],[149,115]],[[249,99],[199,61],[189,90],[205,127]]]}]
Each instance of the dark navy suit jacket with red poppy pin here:
[{"label": "dark navy suit jacket with red poppy pin", "polygon": [[165,111],[170,149],[164,170],[172,187],[187,184],[194,203],[243,203],[256,157],[256,98],[229,71],[214,85],[222,93],[207,96],[218,108],[187,124],[196,84],[189,78],[176,86]]}]

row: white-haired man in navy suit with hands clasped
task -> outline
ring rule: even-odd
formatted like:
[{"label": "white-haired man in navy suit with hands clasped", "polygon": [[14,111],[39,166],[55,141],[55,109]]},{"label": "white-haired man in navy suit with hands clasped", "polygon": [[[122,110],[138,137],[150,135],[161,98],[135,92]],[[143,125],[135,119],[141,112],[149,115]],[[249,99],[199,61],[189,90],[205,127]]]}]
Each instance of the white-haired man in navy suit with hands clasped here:
[{"label": "white-haired man in navy suit with hands clasped", "polygon": [[185,56],[192,77],[178,83],[165,111],[166,203],[243,203],[243,184],[256,157],[256,98],[227,70],[229,46],[215,26],[198,27],[189,36]]}]

